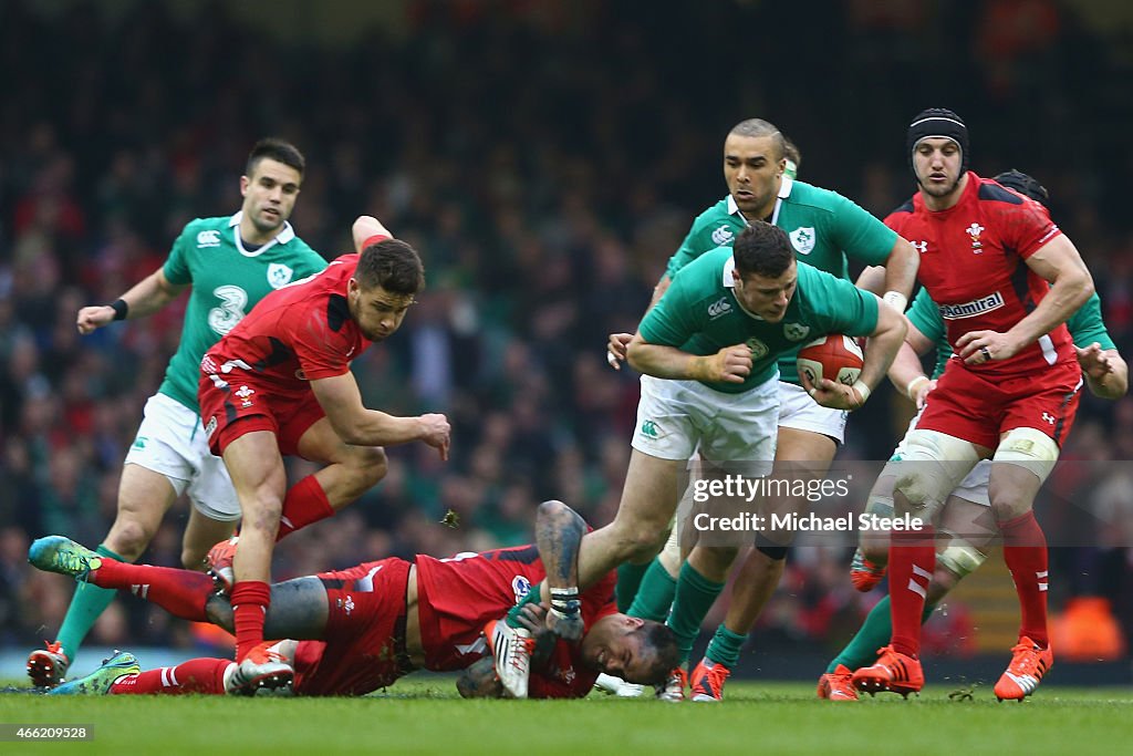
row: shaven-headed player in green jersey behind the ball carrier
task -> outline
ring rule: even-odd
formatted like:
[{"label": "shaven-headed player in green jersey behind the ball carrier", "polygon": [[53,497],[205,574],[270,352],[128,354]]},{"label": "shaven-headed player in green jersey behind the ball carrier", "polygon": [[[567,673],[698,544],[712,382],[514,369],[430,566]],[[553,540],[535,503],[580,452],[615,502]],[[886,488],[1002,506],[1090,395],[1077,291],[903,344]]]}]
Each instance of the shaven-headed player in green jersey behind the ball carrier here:
[{"label": "shaven-headed player in green jersey behind the ball carrier", "polygon": [[[866,265],[884,265],[885,299],[903,312],[917,274],[915,249],[886,228],[878,219],[841,195],[794,180],[786,175],[786,143],[780,130],[760,119],[736,125],[724,143],[724,178],[729,196],[702,212],[693,222],[683,244],[670,260],[665,277],[654,295],[654,304],[667,289],[672,277],[689,261],[705,252],[726,246],[750,220],[763,219],[787,231],[799,260],[841,279],[849,279],[847,256]],[[629,334],[612,334],[607,349],[611,364],[624,356]],[[799,478],[825,477],[837,445],[845,433],[846,413],[821,407],[811,401],[800,384],[795,369],[798,347],[810,339],[800,339],[794,349],[780,357],[781,414],[776,464]],[[787,508],[801,507],[789,503]],[[778,542],[763,535],[756,538],[733,584],[727,615],[717,629],[705,662],[692,673],[698,700],[719,700],[729,668],[734,665],[748,632],[759,618],[783,574],[789,534],[778,534]],[[675,543],[675,542],[674,542]],[[723,588],[735,552],[723,549],[693,549],[689,566],[680,568],[675,547],[645,566],[623,566],[619,574],[619,591],[633,594],[641,583],[631,615],[664,619],[674,593],[682,591],[680,575],[692,574],[707,586],[696,602],[713,598]],[[644,576],[642,576],[644,572]],[[688,579],[685,579],[688,583]],[[688,586],[684,586],[688,587]],[[682,610],[683,604],[674,611]]]}]

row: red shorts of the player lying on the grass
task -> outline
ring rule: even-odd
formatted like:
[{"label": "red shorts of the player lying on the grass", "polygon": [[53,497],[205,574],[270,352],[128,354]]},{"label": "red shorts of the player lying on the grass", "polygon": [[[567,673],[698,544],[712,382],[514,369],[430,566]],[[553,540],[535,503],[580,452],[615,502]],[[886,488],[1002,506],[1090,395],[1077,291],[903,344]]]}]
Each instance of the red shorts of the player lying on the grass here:
[{"label": "red shorts of the player lying on the grass", "polygon": [[329,614],[323,640],[301,640],[295,654],[300,696],[361,696],[412,671],[406,652],[409,562],[383,559],[322,572]]}]

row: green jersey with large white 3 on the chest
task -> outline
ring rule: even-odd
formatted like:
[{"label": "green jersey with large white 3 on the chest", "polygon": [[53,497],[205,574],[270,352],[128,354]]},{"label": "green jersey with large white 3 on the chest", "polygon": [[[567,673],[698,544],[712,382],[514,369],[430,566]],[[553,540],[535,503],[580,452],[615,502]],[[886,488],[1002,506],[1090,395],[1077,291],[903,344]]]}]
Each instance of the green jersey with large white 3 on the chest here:
[{"label": "green jersey with large white 3 on the chest", "polygon": [[198,218],[173,241],[162,271],[170,283],[191,284],[181,342],[165,368],[160,393],[197,411],[201,357],[270,291],[313,275],[326,261],[284,223],[279,235],[248,252],[240,240],[242,211]]}]

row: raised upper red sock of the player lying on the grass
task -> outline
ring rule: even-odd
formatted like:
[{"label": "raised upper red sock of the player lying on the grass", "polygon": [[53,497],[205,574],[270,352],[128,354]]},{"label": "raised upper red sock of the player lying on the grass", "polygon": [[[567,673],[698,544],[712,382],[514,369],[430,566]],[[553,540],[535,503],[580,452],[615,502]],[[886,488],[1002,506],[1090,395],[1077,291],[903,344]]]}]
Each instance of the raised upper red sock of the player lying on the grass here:
[{"label": "raised upper red sock of the player lying on the grass", "polygon": [[101,588],[128,589],[174,617],[195,622],[208,621],[205,604],[216,589],[212,578],[204,572],[127,564],[105,557],[102,558],[102,567],[91,572],[90,579]]}]

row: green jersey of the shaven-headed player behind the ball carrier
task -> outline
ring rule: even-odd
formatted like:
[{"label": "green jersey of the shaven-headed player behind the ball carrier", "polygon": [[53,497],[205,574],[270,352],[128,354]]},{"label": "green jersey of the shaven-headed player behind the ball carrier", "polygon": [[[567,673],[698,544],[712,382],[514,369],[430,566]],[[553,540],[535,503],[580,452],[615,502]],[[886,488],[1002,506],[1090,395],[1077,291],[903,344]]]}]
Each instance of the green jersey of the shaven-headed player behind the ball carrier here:
[{"label": "green jersey of the shaven-headed player behind the ball carrier", "polygon": [[[787,232],[795,256],[836,278],[850,279],[846,256],[864,265],[884,265],[897,235],[877,218],[836,192],[784,176],[770,222]],[[727,195],[692,222],[692,228],[665,270],[668,278],[700,255],[730,247],[748,224]],[[799,383],[796,350],[780,357],[780,377]]]}]

